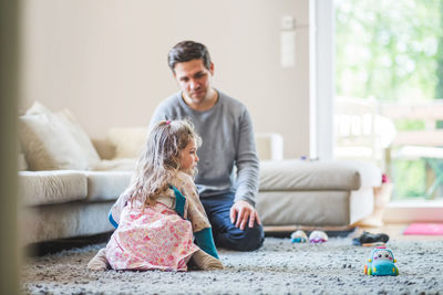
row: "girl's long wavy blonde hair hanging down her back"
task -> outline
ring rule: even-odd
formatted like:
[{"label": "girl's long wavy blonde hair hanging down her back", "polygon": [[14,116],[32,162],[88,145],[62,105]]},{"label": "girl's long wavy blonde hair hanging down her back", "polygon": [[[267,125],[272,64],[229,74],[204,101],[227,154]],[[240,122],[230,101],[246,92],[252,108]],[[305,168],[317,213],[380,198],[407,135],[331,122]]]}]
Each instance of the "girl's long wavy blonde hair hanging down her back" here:
[{"label": "girl's long wavy blonde hair hanging down her back", "polygon": [[155,197],[166,192],[181,169],[181,152],[192,141],[202,145],[200,137],[187,120],[162,120],[151,130],[137,161],[130,187],[123,192],[126,200],[138,199],[154,204]]}]

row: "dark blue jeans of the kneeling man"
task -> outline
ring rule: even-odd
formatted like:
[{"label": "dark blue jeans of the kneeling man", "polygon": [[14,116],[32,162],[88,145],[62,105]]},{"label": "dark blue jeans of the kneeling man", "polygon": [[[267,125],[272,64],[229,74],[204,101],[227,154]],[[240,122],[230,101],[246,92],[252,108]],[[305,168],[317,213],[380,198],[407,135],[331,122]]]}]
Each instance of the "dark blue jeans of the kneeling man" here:
[{"label": "dark blue jeans of the kneeling man", "polygon": [[229,212],[234,204],[234,193],[224,193],[200,198],[213,226],[214,241],[217,246],[236,251],[253,251],[261,246],[265,233],[261,225],[257,223],[254,228],[246,224],[241,231],[230,222]]}]

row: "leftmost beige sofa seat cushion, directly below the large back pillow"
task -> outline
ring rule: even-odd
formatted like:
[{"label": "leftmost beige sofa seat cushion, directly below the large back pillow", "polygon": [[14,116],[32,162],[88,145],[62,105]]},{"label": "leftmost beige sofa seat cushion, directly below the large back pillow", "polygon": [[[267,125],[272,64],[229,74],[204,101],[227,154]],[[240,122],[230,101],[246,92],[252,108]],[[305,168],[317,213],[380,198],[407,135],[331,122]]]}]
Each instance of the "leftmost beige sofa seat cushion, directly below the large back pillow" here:
[{"label": "leftmost beige sofa seat cushion, directly below the large back pillow", "polygon": [[20,171],[19,196],[24,206],[41,206],[83,200],[86,177],[79,171]]}]

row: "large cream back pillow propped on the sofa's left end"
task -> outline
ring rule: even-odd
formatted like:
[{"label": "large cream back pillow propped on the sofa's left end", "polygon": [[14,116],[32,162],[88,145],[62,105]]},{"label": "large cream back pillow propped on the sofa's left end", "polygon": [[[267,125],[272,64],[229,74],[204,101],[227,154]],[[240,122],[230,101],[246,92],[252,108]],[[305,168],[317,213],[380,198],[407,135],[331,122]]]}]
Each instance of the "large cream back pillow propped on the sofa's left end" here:
[{"label": "large cream back pillow propped on the sofa's left end", "polygon": [[39,103],[20,116],[19,137],[31,170],[81,170],[100,160],[69,112],[53,114]]}]

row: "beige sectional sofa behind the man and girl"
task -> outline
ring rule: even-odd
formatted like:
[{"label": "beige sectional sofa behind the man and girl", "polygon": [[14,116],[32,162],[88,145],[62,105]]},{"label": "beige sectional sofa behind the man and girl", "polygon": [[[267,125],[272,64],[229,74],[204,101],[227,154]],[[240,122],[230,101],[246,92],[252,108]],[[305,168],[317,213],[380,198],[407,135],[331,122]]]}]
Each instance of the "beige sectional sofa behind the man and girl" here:
[{"label": "beige sectional sofa behind the man and girl", "polygon": [[[131,180],[146,127],[111,128],[93,139],[68,109],[35,103],[19,117],[19,196],[23,245],[113,230],[111,206]],[[372,164],[284,159],[282,138],[257,134],[265,229],[342,229],[373,210],[381,172]]]}]

